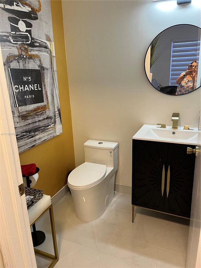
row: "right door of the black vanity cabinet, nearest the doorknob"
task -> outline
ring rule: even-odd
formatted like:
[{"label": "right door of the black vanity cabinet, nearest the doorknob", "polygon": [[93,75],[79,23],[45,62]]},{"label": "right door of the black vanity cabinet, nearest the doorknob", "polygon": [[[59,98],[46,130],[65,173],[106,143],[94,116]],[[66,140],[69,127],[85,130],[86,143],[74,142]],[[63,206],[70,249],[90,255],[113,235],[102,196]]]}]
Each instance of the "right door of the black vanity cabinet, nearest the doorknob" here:
[{"label": "right door of the black vanity cabinet, nearest the doorknob", "polygon": [[195,148],[182,144],[168,146],[164,211],[190,218],[195,154],[187,154],[188,146]]}]

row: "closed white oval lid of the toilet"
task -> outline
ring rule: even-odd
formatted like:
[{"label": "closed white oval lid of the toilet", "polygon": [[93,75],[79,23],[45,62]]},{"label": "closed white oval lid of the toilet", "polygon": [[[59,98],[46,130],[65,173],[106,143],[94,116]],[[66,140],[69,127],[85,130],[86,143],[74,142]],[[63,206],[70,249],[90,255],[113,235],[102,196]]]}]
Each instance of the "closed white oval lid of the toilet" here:
[{"label": "closed white oval lid of the toilet", "polygon": [[87,188],[100,182],[105,174],[106,165],[85,162],[69,174],[68,185],[77,189]]}]

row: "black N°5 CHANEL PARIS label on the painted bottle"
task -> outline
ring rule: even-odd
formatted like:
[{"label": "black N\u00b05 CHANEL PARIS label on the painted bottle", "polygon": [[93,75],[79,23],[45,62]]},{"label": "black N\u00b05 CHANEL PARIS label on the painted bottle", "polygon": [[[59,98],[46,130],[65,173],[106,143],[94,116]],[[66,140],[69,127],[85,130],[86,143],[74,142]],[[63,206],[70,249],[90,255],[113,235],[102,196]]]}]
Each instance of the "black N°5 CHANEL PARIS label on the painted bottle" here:
[{"label": "black N\u00b05 CHANEL PARIS label on the painted bottle", "polygon": [[9,69],[15,107],[43,103],[41,70]]}]

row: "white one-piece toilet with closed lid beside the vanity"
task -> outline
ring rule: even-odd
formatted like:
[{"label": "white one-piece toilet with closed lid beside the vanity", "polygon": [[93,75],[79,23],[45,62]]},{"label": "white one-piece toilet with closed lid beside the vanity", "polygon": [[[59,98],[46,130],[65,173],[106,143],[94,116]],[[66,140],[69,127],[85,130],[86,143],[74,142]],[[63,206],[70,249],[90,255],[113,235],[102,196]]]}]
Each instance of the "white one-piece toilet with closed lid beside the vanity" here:
[{"label": "white one-piece toilet with closed lid beside the vanity", "polygon": [[85,163],[68,176],[76,217],[91,222],[100,217],[114,197],[118,169],[118,143],[88,140],[84,143]]}]

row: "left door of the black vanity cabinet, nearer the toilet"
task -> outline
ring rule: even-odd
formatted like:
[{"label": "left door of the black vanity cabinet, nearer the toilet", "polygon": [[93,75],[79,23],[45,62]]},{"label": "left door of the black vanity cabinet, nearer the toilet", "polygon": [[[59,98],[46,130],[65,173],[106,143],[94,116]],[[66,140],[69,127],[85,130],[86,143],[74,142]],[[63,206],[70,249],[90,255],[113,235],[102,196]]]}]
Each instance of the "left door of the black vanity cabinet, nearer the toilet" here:
[{"label": "left door of the black vanity cabinet, nearer the toilet", "polygon": [[168,146],[133,140],[132,204],[164,211]]}]

